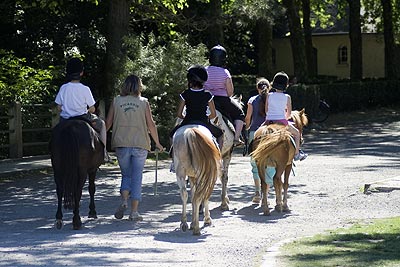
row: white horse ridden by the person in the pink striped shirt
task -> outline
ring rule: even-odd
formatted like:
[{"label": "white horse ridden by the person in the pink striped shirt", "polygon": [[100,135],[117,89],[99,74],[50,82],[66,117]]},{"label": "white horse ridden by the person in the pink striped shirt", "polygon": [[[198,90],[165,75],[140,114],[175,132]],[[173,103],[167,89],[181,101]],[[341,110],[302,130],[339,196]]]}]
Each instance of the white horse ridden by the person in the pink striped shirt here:
[{"label": "white horse ridden by the person in the pink striped shirt", "polygon": [[[241,97],[232,96],[231,100],[233,100],[238,107],[243,108],[243,103],[241,102]],[[233,140],[235,139],[235,126],[222,115],[222,113],[217,110],[217,116],[211,120],[215,126],[221,128],[224,132],[224,142],[222,145],[222,174],[221,174],[221,210],[226,211],[229,210],[229,197],[228,197],[228,168],[232,159],[233,152]]]}]

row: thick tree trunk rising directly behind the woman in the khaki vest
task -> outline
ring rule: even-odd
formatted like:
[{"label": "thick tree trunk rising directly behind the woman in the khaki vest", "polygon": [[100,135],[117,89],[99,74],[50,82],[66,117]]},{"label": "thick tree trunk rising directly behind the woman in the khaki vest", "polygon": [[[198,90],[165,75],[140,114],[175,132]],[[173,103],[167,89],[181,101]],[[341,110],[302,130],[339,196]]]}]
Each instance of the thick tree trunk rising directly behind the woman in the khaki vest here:
[{"label": "thick tree trunk rising directly behind the woman in the khaki vest", "polygon": [[102,95],[106,104],[112,101],[114,91],[116,90],[116,82],[118,77],[123,73],[126,55],[122,51],[123,37],[128,34],[129,0],[113,0],[110,1],[107,25],[107,53],[106,53],[106,87]]}]

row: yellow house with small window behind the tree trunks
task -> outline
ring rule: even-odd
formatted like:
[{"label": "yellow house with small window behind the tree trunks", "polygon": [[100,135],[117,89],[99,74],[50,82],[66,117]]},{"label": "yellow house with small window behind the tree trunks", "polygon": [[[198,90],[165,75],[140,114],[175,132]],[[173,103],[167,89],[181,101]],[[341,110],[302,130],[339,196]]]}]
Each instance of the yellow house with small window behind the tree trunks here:
[{"label": "yellow house with small window behind the tree trunks", "polygon": [[[319,33],[312,36],[318,75],[350,77],[350,38],[347,32]],[[382,34],[362,34],[363,77],[385,77],[385,43]],[[273,64],[275,71],[294,75],[289,37],[274,39]]]}]

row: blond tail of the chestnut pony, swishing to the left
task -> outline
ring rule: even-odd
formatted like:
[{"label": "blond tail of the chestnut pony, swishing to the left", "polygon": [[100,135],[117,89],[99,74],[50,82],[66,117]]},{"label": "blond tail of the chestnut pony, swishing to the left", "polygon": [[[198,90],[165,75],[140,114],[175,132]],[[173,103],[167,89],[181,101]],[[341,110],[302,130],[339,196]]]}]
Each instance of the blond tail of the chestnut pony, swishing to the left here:
[{"label": "blond tail of the chestnut pony, swishing to the left", "polygon": [[291,135],[288,131],[276,131],[269,133],[259,140],[257,147],[254,147],[250,156],[256,162],[261,163],[262,167],[265,168],[267,158],[273,154],[283,144],[290,144]]}]

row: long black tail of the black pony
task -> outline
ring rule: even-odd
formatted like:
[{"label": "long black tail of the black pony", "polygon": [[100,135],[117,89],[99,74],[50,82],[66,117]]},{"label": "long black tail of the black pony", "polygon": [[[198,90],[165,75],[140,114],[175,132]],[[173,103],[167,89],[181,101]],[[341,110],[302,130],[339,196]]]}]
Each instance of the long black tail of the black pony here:
[{"label": "long black tail of the black pony", "polygon": [[63,184],[64,208],[71,210],[79,198],[79,139],[73,131],[64,129],[58,140],[61,141],[58,175]]}]

